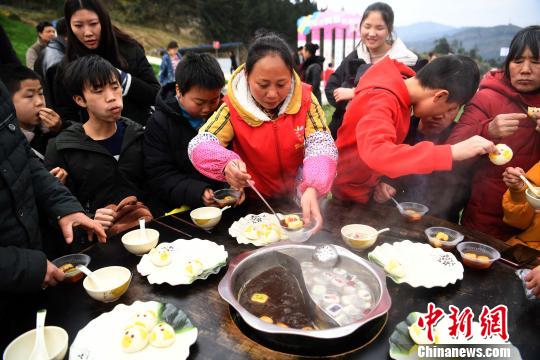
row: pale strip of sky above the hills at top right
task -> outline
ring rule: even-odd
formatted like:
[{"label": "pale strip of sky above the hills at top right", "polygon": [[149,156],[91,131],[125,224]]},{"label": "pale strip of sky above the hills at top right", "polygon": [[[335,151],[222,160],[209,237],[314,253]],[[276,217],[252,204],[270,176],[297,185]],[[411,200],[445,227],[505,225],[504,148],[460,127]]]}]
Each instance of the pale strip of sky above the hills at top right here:
[{"label": "pale strip of sky above the hills at top right", "polygon": [[[376,0],[316,0],[319,8],[361,15]],[[436,22],[462,26],[540,24],[540,0],[383,0],[394,10],[394,25]]]}]

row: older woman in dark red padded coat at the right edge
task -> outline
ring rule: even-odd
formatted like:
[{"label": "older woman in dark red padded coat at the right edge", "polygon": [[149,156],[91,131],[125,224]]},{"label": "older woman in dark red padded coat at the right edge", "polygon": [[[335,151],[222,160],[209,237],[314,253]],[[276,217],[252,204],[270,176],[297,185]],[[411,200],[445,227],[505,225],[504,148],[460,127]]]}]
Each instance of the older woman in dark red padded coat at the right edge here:
[{"label": "older woman in dark red padded coat at the right edge", "polygon": [[540,26],[516,34],[504,70],[486,74],[448,139],[454,144],[481,135],[513,150],[505,166],[494,165],[485,156],[466,170],[472,183],[462,224],[503,240],[518,229],[503,223],[502,196],[507,187],[501,175],[506,166],[530,169],[540,160],[540,118],[528,117],[528,107],[540,107]]}]

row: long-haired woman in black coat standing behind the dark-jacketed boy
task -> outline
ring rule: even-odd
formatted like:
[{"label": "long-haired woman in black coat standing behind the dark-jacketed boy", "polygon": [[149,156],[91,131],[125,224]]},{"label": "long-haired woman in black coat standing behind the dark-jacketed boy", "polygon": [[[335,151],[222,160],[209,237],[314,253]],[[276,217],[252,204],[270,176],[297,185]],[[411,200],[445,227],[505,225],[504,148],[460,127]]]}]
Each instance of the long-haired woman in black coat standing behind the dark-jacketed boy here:
[{"label": "long-haired woman in black coat standing behind the dark-jacketed boy", "polygon": [[87,120],[86,112],[66,92],[64,70],[73,60],[94,54],[108,60],[120,74],[123,115],[145,125],[160,86],[143,47],[112,25],[99,0],[66,0],[64,16],[68,25],[68,45],[55,77],[55,110],[62,119]]}]

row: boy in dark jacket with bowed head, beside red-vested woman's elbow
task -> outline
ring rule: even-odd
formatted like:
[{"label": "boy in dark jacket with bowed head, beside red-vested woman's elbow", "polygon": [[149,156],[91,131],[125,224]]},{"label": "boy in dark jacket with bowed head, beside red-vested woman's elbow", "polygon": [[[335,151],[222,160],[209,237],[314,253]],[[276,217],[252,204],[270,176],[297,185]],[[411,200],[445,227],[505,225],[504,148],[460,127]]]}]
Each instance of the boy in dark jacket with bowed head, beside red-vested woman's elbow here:
[{"label": "boy in dark jacket with bowed head, beside red-vested woman's elbow", "polygon": [[144,168],[156,213],[188,205],[213,205],[212,188],[188,158],[188,144],[218,108],[225,85],[218,62],[207,54],[188,54],[176,68],[176,83],[165,85],[144,135]]}]

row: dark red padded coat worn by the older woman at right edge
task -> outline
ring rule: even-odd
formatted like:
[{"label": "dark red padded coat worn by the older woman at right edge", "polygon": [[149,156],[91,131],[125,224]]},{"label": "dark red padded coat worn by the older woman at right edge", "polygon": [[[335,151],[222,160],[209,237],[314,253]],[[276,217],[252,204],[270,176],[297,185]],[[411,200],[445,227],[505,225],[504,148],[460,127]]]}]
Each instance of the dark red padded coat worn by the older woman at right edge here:
[{"label": "dark red padded coat worn by the older woman at right edge", "polygon": [[514,156],[508,164],[497,166],[483,156],[474,163],[467,163],[466,169],[474,171],[474,175],[462,224],[502,240],[520,232],[503,223],[502,196],[507,187],[502,181],[502,173],[506,167],[520,167],[527,171],[540,160],[540,133],[535,131],[536,123],[530,119],[521,121],[514,134],[502,139],[493,138],[488,126],[496,115],[526,113],[528,106],[540,106],[540,93],[520,94],[504,77],[503,71],[491,71],[480,83],[480,89],[447,140],[447,143],[455,144],[473,135],[481,135],[512,149]]}]

